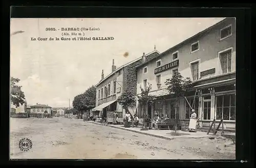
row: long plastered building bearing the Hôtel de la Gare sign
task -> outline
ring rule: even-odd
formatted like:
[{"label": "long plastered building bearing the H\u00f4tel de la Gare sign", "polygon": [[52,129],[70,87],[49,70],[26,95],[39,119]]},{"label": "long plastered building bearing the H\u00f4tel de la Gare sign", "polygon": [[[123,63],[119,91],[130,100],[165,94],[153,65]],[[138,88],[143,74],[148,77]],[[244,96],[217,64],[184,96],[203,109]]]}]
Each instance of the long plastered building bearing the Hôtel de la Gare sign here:
[{"label": "long plastered building bearing the H\u00f4tel de la Gare sign", "polygon": [[[179,119],[189,122],[191,109],[196,110],[199,125],[208,128],[216,119],[224,121],[224,128],[236,128],[236,19],[225,18],[206,30],[190,37],[158,57],[140,64],[137,68],[137,95],[140,86],[152,85],[151,95],[158,100],[148,104],[143,111],[149,115],[167,114],[171,119],[179,114]],[[165,86],[165,80],[178,71],[193,81],[193,90],[186,93],[186,99],[179,100],[175,108],[174,97]],[[195,96],[196,95],[196,96]],[[164,97],[164,101],[162,98]],[[194,101],[195,97],[195,101]],[[194,102],[194,103],[193,103]],[[138,114],[143,111],[138,107]]]}]

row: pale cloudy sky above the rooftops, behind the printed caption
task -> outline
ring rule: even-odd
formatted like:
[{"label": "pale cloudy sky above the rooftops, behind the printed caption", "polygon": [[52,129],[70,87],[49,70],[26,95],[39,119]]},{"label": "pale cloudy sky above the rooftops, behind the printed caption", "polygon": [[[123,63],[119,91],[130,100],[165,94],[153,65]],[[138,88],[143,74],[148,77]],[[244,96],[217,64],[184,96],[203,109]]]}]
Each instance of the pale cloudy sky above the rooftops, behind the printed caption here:
[{"label": "pale cloudy sky above the rooftops, behind the printed caption", "polygon": [[[118,67],[156,49],[163,52],[224,18],[11,18],[10,76],[19,78],[27,103],[72,106],[74,97]],[[56,31],[46,31],[55,27]],[[84,37],[114,37],[112,41],[50,41],[74,38],[61,27],[95,27]],[[59,30],[58,30],[59,29]],[[31,38],[48,38],[47,41]],[[128,52],[128,57],[123,54]]]}]

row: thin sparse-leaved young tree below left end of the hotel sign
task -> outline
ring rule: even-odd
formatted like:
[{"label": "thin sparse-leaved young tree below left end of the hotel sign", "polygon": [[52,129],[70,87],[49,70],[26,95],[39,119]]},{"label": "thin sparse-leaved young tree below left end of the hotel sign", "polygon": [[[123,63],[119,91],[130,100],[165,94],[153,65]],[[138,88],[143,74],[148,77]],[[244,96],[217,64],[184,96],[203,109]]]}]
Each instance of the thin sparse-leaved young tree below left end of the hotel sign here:
[{"label": "thin sparse-leaved young tree below left end of the hotel sign", "polygon": [[[141,90],[141,95],[138,95],[138,102],[141,104],[141,110],[142,111],[142,106],[145,108],[145,106],[149,103],[152,102],[154,99],[156,99],[156,96],[152,96],[149,95],[148,93],[150,93],[152,89],[152,85],[150,83],[148,83],[148,86],[146,86],[145,89],[143,89],[140,86],[140,90]],[[146,114],[143,114],[143,124],[144,124],[144,128],[146,128]]]}]

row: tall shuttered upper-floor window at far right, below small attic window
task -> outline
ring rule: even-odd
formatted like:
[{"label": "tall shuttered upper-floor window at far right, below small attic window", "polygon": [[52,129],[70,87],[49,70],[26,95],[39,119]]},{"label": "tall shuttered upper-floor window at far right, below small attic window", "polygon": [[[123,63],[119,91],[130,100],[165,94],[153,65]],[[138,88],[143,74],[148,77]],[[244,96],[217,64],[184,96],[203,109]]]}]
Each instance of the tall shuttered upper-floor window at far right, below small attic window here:
[{"label": "tall shuttered upper-floor window at far right, below small attic window", "polygon": [[219,53],[222,73],[231,72],[232,48]]}]

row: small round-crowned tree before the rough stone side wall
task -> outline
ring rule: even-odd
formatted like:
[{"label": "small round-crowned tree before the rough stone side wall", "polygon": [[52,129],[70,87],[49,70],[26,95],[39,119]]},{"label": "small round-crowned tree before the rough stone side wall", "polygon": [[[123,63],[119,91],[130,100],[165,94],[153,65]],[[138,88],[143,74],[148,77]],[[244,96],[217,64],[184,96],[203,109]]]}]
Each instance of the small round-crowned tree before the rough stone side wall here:
[{"label": "small round-crowned tree before the rough stone side wall", "polygon": [[[133,109],[136,107],[136,97],[130,91],[123,92],[121,96],[118,97],[117,101],[120,105],[122,105],[125,111],[128,111],[129,113],[129,108]],[[133,118],[133,116],[131,116],[131,118]]]}]

